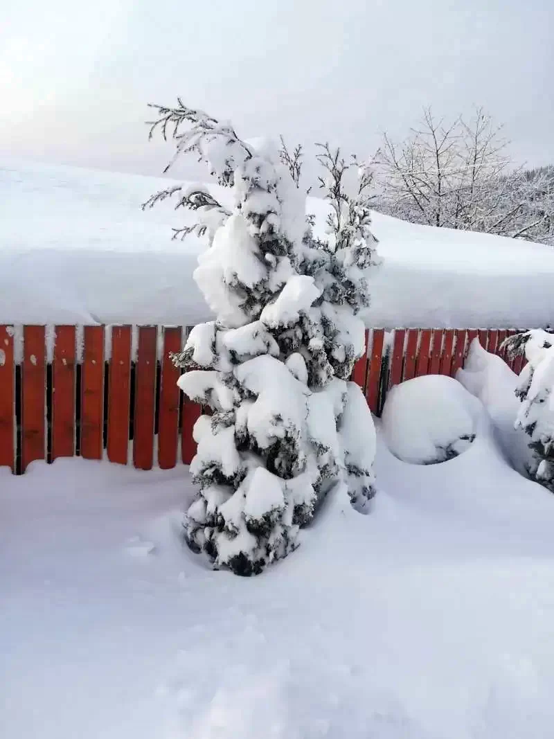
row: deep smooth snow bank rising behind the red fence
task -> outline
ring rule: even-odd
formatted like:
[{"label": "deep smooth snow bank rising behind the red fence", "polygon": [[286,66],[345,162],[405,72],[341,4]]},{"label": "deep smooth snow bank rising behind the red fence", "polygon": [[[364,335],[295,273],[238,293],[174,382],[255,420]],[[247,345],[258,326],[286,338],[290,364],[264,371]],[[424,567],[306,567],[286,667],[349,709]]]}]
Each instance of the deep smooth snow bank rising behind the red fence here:
[{"label": "deep smooth snow bank rising behind the red fence", "polygon": [[[0,166],[0,323],[195,324],[211,319],[192,279],[185,211],[140,204],[168,180],[66,166]],[[308,211],[324,227],[325,205]],[[383,268],[375,327],[529,327],[554,317],[554,250],[375,214]]]}]

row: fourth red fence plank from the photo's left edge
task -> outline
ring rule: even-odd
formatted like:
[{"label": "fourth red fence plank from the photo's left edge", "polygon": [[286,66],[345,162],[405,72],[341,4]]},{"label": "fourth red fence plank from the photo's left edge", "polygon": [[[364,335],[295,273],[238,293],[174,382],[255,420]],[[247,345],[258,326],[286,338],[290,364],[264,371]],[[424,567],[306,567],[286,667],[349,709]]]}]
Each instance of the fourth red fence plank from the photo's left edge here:
[{"label": "fourth red fence plank from the photo's left edge", "polygon": [[99,460],[103,449],[104,327],[85,326],[81,392],[81,455]]}]

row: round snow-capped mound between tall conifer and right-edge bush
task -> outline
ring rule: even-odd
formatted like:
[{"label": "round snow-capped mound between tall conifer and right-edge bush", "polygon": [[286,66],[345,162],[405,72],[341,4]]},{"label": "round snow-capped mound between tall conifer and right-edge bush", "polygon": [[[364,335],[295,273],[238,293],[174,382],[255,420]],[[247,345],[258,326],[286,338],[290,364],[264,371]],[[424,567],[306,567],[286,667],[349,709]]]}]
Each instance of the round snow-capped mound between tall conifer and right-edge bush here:
[{"label": "round snow-capped mound between tall conifer and right-edge bush", "polygon": [[445,462],[471,446],[479,407],[479,401],[450,377],[415,378],[387,395],[383,434],[392,454],[404,462]]}]

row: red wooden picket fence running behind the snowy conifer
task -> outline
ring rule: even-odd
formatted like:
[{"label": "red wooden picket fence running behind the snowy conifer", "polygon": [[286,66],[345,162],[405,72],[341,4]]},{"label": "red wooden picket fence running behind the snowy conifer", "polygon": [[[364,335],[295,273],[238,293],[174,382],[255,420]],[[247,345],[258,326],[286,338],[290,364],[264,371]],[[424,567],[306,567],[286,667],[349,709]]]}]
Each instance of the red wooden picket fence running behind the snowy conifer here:
[{"label": "red wooden picket fence running behind the snowy conifer", "polygon": [[[201,409],[177,388],[169,353],[185,327],[0,326],[0,466],[21,474],[34,460],[81,456],[138,469],[188,464]],[[454,375],[473,338],[503,356],[515,330],[373,329],[352,379],[380,415],[388,389],[419,375]],[[82,334],[82,335],[81,335]],[[105,348],[109,347],[109,355]],[[505,361],[515,372],[522,360]]]}]

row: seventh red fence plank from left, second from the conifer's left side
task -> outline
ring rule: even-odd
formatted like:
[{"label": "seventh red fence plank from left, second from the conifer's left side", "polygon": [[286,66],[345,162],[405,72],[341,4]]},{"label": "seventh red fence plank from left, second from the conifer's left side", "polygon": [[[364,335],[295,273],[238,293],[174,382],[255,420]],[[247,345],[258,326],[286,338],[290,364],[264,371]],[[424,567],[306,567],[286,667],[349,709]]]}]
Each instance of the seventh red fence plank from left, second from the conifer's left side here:
[{"label": "seventh red fence plank from left, second from the conifer's left side", "polygon": [[163,334],[162,375],[160,381],[160,418],[158,420],[158,464],[171,469],[177,464],[179,434],[179,367],[169,356],[181,348],[181,329],[166,328]]}]

